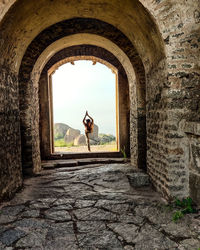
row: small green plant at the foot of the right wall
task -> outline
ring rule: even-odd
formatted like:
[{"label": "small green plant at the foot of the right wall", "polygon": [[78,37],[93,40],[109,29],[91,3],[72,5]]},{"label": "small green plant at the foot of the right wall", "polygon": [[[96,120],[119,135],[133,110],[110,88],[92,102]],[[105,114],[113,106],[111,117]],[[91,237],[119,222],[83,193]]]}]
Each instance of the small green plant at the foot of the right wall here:
[{"label": "small green plant at the foot of the right wall", "polygon": [[197,210],[194,208],[193,201],[190,197],[179,200],[176,199],[174,203],[175,207],[181,208],[173,214],[172,220],[176,222],[181,219],[184,214],[196,213]]}]

